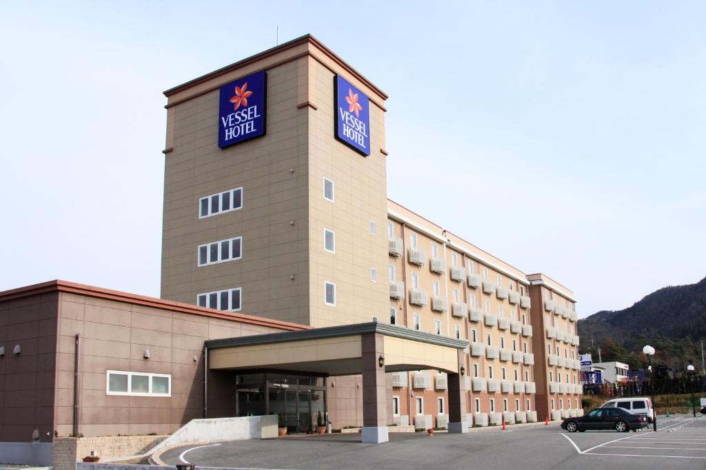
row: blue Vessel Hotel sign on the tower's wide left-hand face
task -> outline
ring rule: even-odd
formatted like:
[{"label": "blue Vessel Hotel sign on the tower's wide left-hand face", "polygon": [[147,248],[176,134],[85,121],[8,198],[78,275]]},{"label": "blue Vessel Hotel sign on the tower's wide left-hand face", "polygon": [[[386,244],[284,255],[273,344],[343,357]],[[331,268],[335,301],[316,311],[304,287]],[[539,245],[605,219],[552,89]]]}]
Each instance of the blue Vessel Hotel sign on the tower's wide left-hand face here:
[{"label": "blue Vessel Hotel sign on the tower's wide left-hand face", "polygon": [[264,70],[220,87],[218,147],[265,135],[266,94]]}]

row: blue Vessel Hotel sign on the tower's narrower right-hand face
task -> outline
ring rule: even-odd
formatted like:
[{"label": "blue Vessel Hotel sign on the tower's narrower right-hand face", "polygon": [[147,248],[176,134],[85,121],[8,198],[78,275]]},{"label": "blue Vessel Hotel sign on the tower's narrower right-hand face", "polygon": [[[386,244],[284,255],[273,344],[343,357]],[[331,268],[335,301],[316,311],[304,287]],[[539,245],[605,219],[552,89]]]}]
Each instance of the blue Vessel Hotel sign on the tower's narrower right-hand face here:
[{"label": "blue Vessel Hotel sign on the tower's narrower right-hand face", "polygon": [[333,89],[336,139],[370,155],[370,100],[340,75],[333,78]]}]

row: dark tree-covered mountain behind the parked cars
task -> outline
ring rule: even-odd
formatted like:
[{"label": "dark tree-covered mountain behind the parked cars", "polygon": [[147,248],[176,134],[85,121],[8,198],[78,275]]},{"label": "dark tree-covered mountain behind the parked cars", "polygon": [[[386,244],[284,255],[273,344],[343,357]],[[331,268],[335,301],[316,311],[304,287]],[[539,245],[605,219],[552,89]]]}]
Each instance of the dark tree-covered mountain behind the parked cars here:
[{"label": "dark tree-covered mountain behind the parked cars", "polygon": [[[698,283],[663,287],[617,311],[599,311],[578,321],[580,351],[593,354],[597,347],[603,361],[626,362],[642,369],[647,359],[644,345],[656,350],[654,361],[674,371],[693,361],[701,369],[700,341],[706,341],[706,278]],[[593,340],[593,345],[592,341]]]}]

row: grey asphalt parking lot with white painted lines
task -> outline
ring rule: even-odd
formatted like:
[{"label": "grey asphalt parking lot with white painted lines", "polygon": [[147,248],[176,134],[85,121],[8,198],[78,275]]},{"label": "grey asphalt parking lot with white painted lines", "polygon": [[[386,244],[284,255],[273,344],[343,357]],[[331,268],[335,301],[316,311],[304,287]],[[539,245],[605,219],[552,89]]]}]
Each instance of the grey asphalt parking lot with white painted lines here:
[{"label": "grey asphalt parking lot with white painted lines", "polygon": [[557,422],[433,437],[390,433],[381,445],[362,444],[358,434],[288,436],[184,446],[162,460],[238,469],[706,469],[706,417],[658,423],[657,433],[567,433]]}]

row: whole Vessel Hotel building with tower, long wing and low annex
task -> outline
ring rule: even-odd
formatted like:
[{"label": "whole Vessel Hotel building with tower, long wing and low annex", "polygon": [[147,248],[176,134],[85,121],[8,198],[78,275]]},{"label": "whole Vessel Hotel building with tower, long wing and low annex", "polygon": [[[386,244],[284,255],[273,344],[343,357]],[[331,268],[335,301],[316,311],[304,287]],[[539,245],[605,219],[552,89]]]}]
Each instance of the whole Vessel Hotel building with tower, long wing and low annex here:
[{"label": "whole Vessel Hotel building with tower, long wing and low annex", "polygon": [[165,95],[162,298],[0,292],[1,440],[582,412],[573,293],[388,199],[387,95],[333,51],[304,36]]}]

